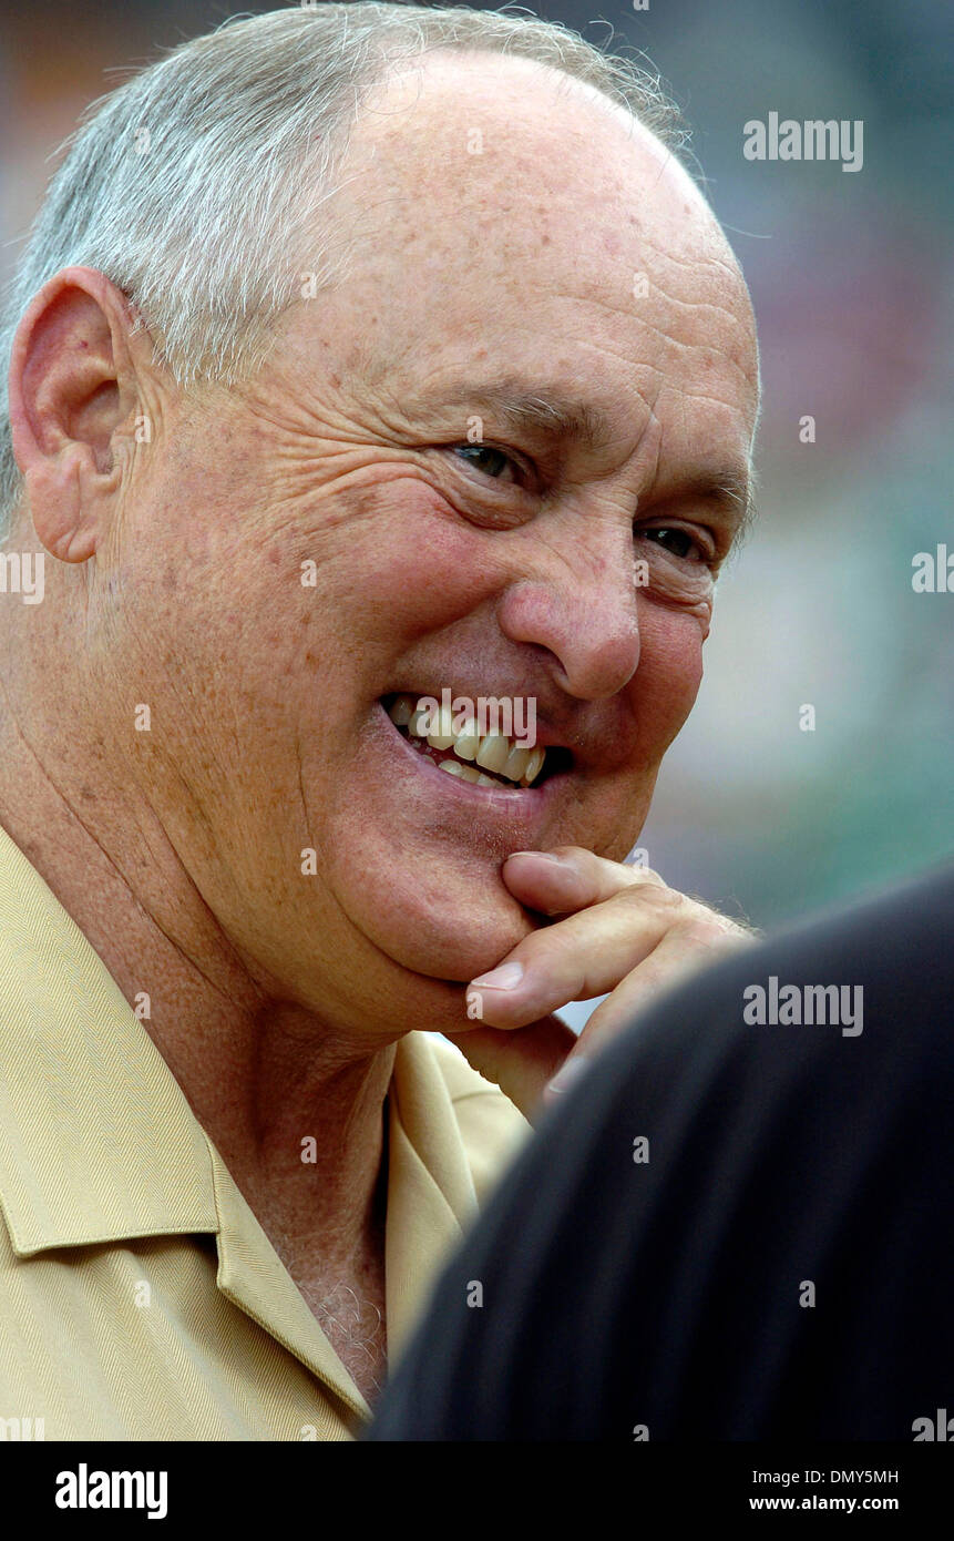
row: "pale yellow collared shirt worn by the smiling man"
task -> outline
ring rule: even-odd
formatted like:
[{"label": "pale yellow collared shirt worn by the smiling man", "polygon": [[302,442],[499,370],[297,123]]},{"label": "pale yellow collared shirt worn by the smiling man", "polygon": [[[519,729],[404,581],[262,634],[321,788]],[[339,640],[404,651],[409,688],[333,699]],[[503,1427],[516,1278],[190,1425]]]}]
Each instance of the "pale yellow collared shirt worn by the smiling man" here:
[{"label": "pale yellow collared shirt worn by the smiling man", "polygon": [[[529,1125],[424,1032],[398,1045],[388,1102],[393,1365]],[[368,1418],[162,1054],[0,828],[0,1439],[351,1439]]]}]

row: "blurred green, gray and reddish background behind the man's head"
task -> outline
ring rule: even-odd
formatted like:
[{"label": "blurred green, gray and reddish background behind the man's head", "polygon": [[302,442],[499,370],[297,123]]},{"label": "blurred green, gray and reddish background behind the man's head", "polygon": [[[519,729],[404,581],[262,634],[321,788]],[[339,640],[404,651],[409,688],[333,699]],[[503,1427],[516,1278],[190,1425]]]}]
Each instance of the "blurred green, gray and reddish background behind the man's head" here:
[{"label": "blurred green, gray and reddish background behind the man's head", "polygon": [[[752,288],[761,515],[720,579],[707,678],[640,846],[670,885],[774,928],[954,854],[954,593],[911,584],[917,552],[954,553],[954,6],[535,9],[649,55]],[[80,109],[231,14],[0,0],[0,279]],[[743,125],[771,111],[862,119],[863,168],[746,160]]]}]

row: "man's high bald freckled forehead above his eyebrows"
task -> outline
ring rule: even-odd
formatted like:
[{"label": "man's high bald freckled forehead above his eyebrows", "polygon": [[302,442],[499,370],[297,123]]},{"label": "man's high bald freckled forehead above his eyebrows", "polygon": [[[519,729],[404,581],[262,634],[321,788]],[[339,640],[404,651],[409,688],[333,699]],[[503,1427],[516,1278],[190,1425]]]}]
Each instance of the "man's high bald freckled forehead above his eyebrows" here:
[{"label": "man's high bald freckled forehead above his eyebrows", "polygon": [[322,325],[351,319],[345,367],[388,399],[456,388],[465,359],[527,390],[578,385],[610,436],[630,427],[616,404],[640,413],[660,382],[672,411],[731,398],[754,418],[752,313],[726,237],[669,149],[592,86],[433,54],[368,96],[341,180],[351,262]]}]

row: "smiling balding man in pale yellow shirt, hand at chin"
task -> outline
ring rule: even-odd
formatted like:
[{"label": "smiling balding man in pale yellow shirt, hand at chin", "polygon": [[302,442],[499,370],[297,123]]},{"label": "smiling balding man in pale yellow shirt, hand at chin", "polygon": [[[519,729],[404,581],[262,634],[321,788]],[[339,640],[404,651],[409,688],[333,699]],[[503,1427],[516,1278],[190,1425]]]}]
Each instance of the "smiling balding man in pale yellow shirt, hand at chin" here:
[{"label": "smiling balding man in pale yellow shirt, hand at chin", "polygon": [[559,28],[330,5],[57,173],[0,442],[3,1418],[353,1436],[555,1073],[746,940],[623,861],[758,398],[675,146]]}]

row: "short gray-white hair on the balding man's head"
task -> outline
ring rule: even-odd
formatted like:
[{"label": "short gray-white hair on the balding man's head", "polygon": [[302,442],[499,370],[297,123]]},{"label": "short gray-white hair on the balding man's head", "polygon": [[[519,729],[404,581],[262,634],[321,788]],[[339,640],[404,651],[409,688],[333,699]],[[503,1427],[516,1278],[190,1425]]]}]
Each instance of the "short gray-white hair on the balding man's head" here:
[{"label": "short gray-white hair on the balding man's head", "polygon": [[23,492],[9,424],[12,341],[43,284],[72,265],[105,273],[182,388],[248,378],[299,294],[299,270],[316,273],[316,287],[339,273],[341,251],[328,228],[316,237],[314,216],[334,193],[364,99],[435,48],[550,65],[624,106],[674,156],[687,145],[655,74],[530,14],[302,3],[182,43],[85,111],[9,284],[0,525]]}]

